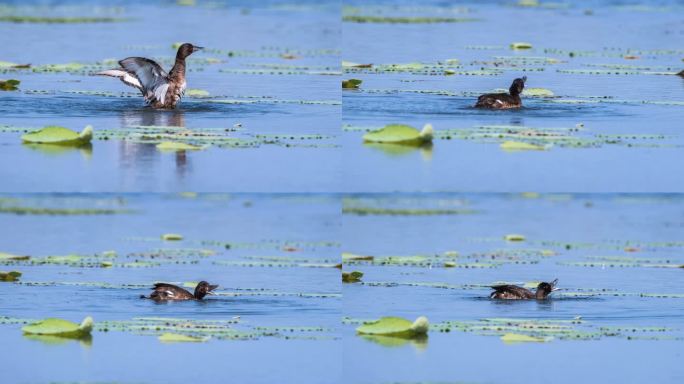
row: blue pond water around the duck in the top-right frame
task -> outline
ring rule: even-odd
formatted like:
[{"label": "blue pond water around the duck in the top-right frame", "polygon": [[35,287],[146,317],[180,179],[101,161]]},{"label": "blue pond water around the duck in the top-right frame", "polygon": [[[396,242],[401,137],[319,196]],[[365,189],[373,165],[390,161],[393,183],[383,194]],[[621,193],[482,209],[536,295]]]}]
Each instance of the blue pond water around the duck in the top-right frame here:
[{"label": "blue pond water around the duck in the top-right frame", "polygon": [[[677,121],[684,117],[684,82],[677,76],[567,74],[563,70],[597,70],[627,65],[664,71],[681,70],[681,3],[650,3],[643,10],[626,2],[568,3],[561,9],[514,7],[514,2],[347,2],[362,15],[470,17],[477,22],[436,24],[343,23],[343,59],[355,63],[435,64],[458,59],[461,71],[494,68],[492,76],[444,76],[411,73],[349,71],[363,80],[359,91],[343,92],[343,122],[355,127],[408,124],[435,130],[465,130],[475,126],[512,125],[533,128],[573,128],[578,134],[667,136],[662,140],[626,140],[621,145],[562,148],[509,153],[500,141],[434,142],[431,150],[396,155],[365,146],[362,134],[344,132],[344,188],[353,192],[386,191],[572,191],[676,192],[684,179],[676,172],[682,141]],[[542,2],[543,3],[543,2]],[[660,4],[659,4],[660,6]],[[455,12],[466,8],[468,12]],[[591,10],[586,15],[585,10]],[[349,11],[352,13],[352,11]],[[368,38],[372,36],[373,38]],[[399,38],[400,37],[400,38]],[[513,42],[529,42],[531,50],[514,51]],[[469,48],[473,47],[475,48]],[[479,47],[479,48],[478,48]],[[498,48],[497,48],[498,47]],[[638,50],[644,52],[638,52]],[[568,52],[585,52],[569,57]],[[661,52],[662,51],[662,52]],[[665,51],[669,53],[665,53]],[[635,60],[623,56],[639,56]],[[520,64],[496,57],[542,57],[548,65]],[[528,71],[520,69],[526,68]],[[534,69],[534,70],[531,70]],[[541,69],[541,71],[538,71]],[[530,71],[531,70],[531,71]],[[546,88],[563,99],[587,96],[634,101],[629,104],[559,104],[523,97],[524,108],[508,111],[474,109],[476,95],[508,89],[526,75],[527,87]],[[446,91],[453,95],[409,93]],[[466,93],[465,95],[463,93]],[[470,95],[472,94],[472,95]],[[611,100],[611,99],[607,99]],[[641,104],[675,101],[679,105]],[[632,143],[634,145],[628,146]],[[651,144],[657,144],[652,146]],[[667,177],[660,177],[662,175]]]}]

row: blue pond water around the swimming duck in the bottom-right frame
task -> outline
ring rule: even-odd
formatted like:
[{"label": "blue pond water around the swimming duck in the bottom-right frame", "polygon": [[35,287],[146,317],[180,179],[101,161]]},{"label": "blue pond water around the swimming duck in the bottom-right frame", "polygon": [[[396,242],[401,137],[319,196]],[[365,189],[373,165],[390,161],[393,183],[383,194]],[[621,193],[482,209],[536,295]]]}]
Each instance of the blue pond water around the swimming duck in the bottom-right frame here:
[{"label": "blue pond water around the swimming duck in the bottom-right frame", "polygon": [[[480,213],[449,216],[357,216],[343,218],[344,250],[361,255],[439,255],[457,251],[457,265],[491,261],[490,255],[518,249],[549,249],[554,256],[525,257],[536,264],[504,263],[494,268],[373,266],[359,270],[369,285],[344,284],[344,314],[356,319],[427,316],[432,324],[478,321],[486,318],[536,320],[581,316],[592,327],[666,327],[662,340],[629,340],[627,336],[663,336],[662,333],[625,332],[620,337],[559,340],[507,345],[500,335],[479,335],[431,329],[425,342],[388,347],[355,336],[356,325],[343,328],[344,370],[354,383],[477,382],[559,383],[678,382],[684,370],[682,354],[684,312],[677,298],[639,296],[557,297],[554,300],[496,302],[486,287],[443,289],[406,284],[492,284],[497,281],[559,280],[559,293],[588,289],[621,293],[681,293],[679,268],[579,267],[567,262],[592,257],[635,257],[684,262],[681,230],[684,200],[677,196],[591,195],[377,195],[365,196],[366,206],[446,208],[463,205]],[[358,203],[358,201],[357,201]],[[507,242],[507,234],[526,236]],[[677,246],[665,246],[675,242]],[[558,245],[549,245],[555,244]],[[565,249],[565,244],[573,248]],[[623,250],[629,243],[638,252]],[[502,251],[503,250],[503,251]],[[512,254],[512,253],[509,253]],[[479,255],[479,256],[477,256]],[[499,257],[498,260],[505,260]],[[379,286],[373,285],[379,283]],[[388,285],[396,283],[399,285]],[[558,293],[556,293],[558,294]],[[595,328],[594,328],[595,329]],[[625,364],[625,362],[632,362]]]}]

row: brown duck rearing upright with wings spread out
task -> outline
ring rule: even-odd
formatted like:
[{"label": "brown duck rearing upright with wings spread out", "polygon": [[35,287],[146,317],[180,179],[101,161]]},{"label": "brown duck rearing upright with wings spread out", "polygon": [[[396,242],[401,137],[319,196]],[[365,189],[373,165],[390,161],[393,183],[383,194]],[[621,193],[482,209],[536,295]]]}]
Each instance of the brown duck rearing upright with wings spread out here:
[{"label": "brown duck rearing upright with wings spread out", "polygon": [[154,60],[129,57],[119,61],[121,68],[97,72],[96,75],[116,77],[124,84],[138,88],[145,102],[153,108],[172,109],[185,93],[185,58],[202,49],[189,43],[178,48],[176,63],[170,73]]}]

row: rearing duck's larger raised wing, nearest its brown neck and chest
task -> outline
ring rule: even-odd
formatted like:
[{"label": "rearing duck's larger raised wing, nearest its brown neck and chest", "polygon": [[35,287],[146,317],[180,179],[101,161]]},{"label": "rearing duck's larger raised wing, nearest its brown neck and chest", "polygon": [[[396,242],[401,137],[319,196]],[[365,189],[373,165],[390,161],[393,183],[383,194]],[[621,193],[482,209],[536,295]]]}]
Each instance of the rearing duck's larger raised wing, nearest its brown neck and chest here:
[{"label": "rearing duck's larger raised wing, nearest its brown neck and chest", "polygon": [[129,57],[119,61],[119,65],[138,79],[147,102],[164,103],[169,90],[169,74],[159,64],[144,57]]}]

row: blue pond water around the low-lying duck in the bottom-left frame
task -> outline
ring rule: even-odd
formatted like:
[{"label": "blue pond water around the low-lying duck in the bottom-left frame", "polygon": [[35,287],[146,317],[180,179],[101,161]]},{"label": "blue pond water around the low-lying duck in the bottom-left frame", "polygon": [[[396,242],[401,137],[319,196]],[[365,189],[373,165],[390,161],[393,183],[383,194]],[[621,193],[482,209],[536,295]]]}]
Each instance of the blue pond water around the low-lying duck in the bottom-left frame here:
[{"label": "blue pond water around the low-lying duck in the bottom-left frame", "polygon": [[[22,319],[60,317],[96,323],[140,317],[226,320],[240,317],[238,329],[321,327],[320,332],[280,332],[249,340],[212,339],[206,343],[166,344],[138,332],[93,332],[90,345],[65,341],[52,345],[22,336],[21,325],[0,326],[3,372],[8,382],[337,382],[340,373],[341,299],[335,268],[236,266],[220,262],[259,262],[260,258],[337,260],[339,203],[327,196],[210,195],[12,195],[21,204],[52,207],[125,207],[134,213],[104,216],[0,215],[2,252],[31,255],[93,255],[115,250],[112,268],[64,265],[2,266],[20,270],[21,284],[2,283],[1,316]],[[3,202],[6,206],[7,201]],[[16,202],[12,204],[17,204]],[[162,241],[179,233],[180,242]],[[218,241],[233,244],[206,245]],[[328,244],[330,243],[330,244]],[[239,245],[242,244],[242,247]],[[296,250],[283,251],[284,244]],[[170,260],[136,256],[155,249],[186,249]],[[193,257],[187,249],[216,254]],[[117,267],[134,260],[158,260],[150,268]],[[176,264],[196,260],[196,264]],[[219,293],[201,302],[156,304],[141,300],[155,281],[219,284]],[[31,285],[35,283],[57,285]],[[66,283],[142,284],[141,288],[103,288]],[[258,289],[258,291],[253,291]],[[253,293],[261,292],[261,295]],[[250,294],[252,293],[252,294]],[[290,293],[290,295],[284,295]],[[307,297],[298,294],[327,294]],[[291,339],[286,337],[290,336]],[[306,337],[312,337],[308,339]],[[142,352],[144,351],[144,352]],[[30,358],[27,358],[30,356]],[[40,369],[36,369],[39,362]],[[258,369],[256,367],[259,367]],[[296,369],[293,369],[296,367]]]}]

